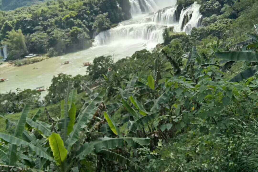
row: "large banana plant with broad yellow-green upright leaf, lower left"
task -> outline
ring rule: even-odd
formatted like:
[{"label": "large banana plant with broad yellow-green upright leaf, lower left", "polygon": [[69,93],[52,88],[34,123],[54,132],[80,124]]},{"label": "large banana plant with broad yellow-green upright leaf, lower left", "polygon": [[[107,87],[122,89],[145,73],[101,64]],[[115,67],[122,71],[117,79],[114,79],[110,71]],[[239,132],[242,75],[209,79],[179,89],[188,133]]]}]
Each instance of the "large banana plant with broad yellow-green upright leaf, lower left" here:
[{"label": "large banana plant with broad yellow-green upright leaf, lower left", "polygon": [[[32,152],[36,153],[36,161],[42,161],[42,163],[43,161],[45,163],[46,161],[50,162],[47,164],[50,165],[52,163],[58,172],[69,172],[74,164],[85,159],[89,154],[102,155],[108,159],[113,157],[116,161],[123,161],[138,167],[136,163],[113,152],[112,149],[118,147],[123,148],[126,146],[125,144],[130,146],[132,143],[145,146],[149,144],[150,139],[123,137],[107,112],[104,113],[104,117],[118,138],[98,138],[95,141],[85,142],[80,145],[80,134],[87,134],[89,132],[89,124],[92,122],[94,115],[99,111],[104,92],[90,95],[90,101],[85,102],[83,109],[76,117],[75,102],[77,91],[75,89],[71,90],[70,88],[71,84],[68,86],[70,93],[68,92],[67,98],[61,102],[61,118],[57,121],[57,124],[52,131],[50,129],[52,128],[51,125],[40,122],[35,118],[26,118],[30,107],[28,105],[25,107],[24,112],[16,125],[15,134],[12,136],[0,133],[0,138],[10,144],[8,152],[6,149],[0,148],[3,150],[0,154],[1,157],[8,157],[6,164],[18,166],[18,164],[16,164],[18,160],[16,154],[17,148],[25,145],[30,147]],[[38,113],[36,116],[38,116]],[[24,131],[25,125],[33,128],[32,130],[37,130],[43,138],[47,138],[46,142],[44,142],[44,146],[36,141],[35,136],[29,141],[26,141],[21,137],[23,132],[27,133],[27,131]],[[28,133],[26,135],[30,136]],[[49,147],[47,145],[49,145]],[[51,152],[49,150],[51,150]],[[40,166],[40,169],[42,168],[43,166]]]}]

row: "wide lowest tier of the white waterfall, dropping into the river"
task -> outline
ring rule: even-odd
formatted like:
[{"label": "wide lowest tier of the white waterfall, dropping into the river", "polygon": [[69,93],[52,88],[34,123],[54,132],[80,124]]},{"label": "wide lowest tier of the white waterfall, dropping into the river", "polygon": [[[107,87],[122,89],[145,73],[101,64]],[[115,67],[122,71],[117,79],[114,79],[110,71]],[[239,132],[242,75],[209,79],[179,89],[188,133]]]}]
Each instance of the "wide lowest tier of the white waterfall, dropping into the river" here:
[{"label": "wide lowest tier of the white waterfall, dropping into the river", "polygon": [[105,45],[113,41],[125,39],[147,40],[156,43],[164,42],[162,33],[166,26],[155,23],[120,25],[116,28],[101,32],[95,38],[95,46]]}]

